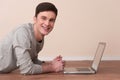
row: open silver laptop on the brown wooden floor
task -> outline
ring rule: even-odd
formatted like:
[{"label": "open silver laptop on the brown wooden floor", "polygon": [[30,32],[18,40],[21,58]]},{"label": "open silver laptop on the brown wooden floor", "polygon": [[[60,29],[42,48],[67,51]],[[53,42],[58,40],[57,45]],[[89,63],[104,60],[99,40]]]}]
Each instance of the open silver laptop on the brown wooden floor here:
[{"label": "open silver laptop on the brown wooden floor", "polygon": [[99,63],[101,61],[103,52],[105,50],[106,43],[105,42],[99,42],[94,60],[92,62],[92,65],[90,67],[77,67],[77,68],[64,68],[64,73],[96,73],[98,70]]}]

